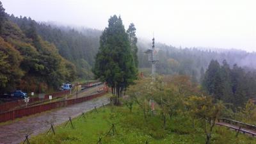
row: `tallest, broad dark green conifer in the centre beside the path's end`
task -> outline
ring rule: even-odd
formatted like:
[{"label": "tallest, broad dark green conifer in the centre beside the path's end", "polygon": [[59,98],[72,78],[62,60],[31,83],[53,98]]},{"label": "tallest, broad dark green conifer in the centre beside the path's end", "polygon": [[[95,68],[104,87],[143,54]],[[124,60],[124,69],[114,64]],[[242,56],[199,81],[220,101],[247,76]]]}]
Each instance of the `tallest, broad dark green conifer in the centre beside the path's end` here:
[{"label": "tallest, broad dark green conifer in the centre beside the path's end", "polygon": [[118,96],[118,103],[124,89],[136,79],[137,70],[121,17],[114,15],[108,22],[108,28],[100,36],[93,73],[95,78],[111,86],[112,92]]}]

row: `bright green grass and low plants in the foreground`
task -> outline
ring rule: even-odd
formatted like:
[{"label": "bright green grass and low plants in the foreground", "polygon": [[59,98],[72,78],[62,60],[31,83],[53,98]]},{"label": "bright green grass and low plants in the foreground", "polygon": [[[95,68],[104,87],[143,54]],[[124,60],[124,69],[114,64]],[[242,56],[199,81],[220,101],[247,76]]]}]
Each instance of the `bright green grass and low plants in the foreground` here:
[{"label": "bright green grass and low plants in the foreground", "polygon": [[[191,120],[186,116],[174,116],[172,120],[168,119],[166,130],[162,127],[162,120],[159,115],[148,116],[147,121],[143,118],[139,108],[134,108],[132,113],[125,106],[107,106],[86,113],[86,121],[83,118],[74,118],[72,123],[63,127],[64,124],[55,128],[56,135],[40,134],[31,138],[31,143],[37,144],[72,144],[97,143],[102,138],[104,144],[131,144],[145,143],[150,144],[199,144],[204,142],[204,131],[200,128],[200,123],[196,124],[193,129]],[[111,124],[115,124],[117,135],[106,136],[111,128]],[[230,131],[225,127],[216,126],[212,134],[212,143],[225,144],[248,144],[256,143],[256,138],[239,134],[236,138],[236,132]]]}]

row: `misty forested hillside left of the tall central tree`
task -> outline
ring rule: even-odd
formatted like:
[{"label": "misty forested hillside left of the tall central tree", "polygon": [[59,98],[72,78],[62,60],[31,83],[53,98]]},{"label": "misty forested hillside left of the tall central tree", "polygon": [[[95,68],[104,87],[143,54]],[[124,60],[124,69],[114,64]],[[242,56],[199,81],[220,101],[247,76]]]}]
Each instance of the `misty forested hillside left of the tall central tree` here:
[{"label": "misty forested hillside left of the tall central tree", "polygon": [[30,18],[18,18],[14,15],[11,15],[9,19],[20,26],[23,31],[26,31],[29,24],[35,24],[36,33],[47,42],[54,44],[63,58],[76,65],[78,77],[92,79],[91,68],[99,49],[101,31],[84,28],[79,28],[77,31],[74,28],[38,23]]}]

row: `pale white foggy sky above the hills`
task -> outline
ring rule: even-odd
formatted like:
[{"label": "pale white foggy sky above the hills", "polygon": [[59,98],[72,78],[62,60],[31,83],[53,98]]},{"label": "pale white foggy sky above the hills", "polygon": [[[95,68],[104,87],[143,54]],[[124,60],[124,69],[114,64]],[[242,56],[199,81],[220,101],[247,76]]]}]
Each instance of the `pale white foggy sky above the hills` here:
[{"label": "pale white foggy sky above the hills", "polygon": [[0,0],[7,13],[104,29],[110,15],[133,22],[138,37],[175,47],[256,51],[256,1]]}]

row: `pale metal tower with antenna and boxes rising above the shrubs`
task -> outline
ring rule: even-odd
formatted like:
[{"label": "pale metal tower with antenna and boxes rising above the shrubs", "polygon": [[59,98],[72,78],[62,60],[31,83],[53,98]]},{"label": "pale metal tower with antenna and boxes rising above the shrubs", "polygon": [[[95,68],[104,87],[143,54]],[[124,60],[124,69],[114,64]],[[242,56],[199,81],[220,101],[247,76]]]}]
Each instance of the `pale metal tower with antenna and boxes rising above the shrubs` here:
[{"label": "pale metal tower with antenna and boxes rising above the shrubs", "polygon": [[148,49],[145,51],[148,54],[148,61],[152,63],[152,76],[154,77],[156,74],[156,63],[159,61],[157,56],[157,51],[155,49],[155,38],[152,39],[152,49]]}]

